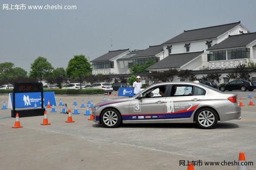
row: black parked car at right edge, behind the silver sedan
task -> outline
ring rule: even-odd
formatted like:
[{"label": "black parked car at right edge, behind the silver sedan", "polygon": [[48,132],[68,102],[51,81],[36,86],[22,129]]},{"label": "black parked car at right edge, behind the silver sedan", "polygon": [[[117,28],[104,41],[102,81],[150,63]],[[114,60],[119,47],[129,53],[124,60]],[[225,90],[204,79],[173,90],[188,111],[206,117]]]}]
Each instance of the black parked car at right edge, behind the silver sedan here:
[{"label": "black parked car at right edge, behind the silver sedan", "polygon": [[232,91],[232,90],[242,90],[242,91],[253,91],[256,85],[247,80],[233,80],[227,84],[222,84],[219,86],[221,91]]}]

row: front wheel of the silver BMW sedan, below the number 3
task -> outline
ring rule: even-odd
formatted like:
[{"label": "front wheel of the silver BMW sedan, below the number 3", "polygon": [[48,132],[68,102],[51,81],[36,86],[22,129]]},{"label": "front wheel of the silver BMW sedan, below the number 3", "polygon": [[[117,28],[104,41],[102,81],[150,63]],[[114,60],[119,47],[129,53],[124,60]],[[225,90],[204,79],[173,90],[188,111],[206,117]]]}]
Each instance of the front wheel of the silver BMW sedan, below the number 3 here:
[{"label": "front wheel of the silver BMW sedan, below the number 3", "polygon": [[100,114],[101,123],[106,128],[116,128],[121,123],[121,115],[119,111],[113,108],[105,109]]}]

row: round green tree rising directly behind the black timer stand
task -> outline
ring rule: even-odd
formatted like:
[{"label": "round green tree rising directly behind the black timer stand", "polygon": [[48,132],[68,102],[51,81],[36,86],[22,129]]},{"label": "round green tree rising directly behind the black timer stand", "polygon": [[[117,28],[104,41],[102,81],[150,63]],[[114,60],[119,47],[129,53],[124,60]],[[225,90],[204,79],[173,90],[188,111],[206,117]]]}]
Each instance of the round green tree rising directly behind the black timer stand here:
[{"label": "round green tree rising directly behind the black timer stand", "polygon": [[49,63],[44,57],[38,57],[35,59],[30,68],[32,69],[30,71],[30,77],[39,78],[40,82],[42,81],[42,78],[49,77],[49,75],[51,75],[51,71],[53,70],[52,64]]}]

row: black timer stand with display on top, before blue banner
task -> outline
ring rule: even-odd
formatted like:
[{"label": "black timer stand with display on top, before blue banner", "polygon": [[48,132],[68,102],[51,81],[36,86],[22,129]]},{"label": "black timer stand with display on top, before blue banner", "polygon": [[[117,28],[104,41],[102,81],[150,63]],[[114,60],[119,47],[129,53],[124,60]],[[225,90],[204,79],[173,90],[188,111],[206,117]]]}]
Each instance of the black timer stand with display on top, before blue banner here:
[{"label": "black timer stand with display on top, before blue banner", "polygon": [[[16,117],[18,113],[19,117],[28,117],[28,116],[41,116],[45,114],[44,108],[44,91],[42,88],[42,83],[14,83],[13,85],[13,105],[11,116]],[[33,109],[15,109],[15,93],[26,93],[26,92],[41,92],[41,108]]]}]

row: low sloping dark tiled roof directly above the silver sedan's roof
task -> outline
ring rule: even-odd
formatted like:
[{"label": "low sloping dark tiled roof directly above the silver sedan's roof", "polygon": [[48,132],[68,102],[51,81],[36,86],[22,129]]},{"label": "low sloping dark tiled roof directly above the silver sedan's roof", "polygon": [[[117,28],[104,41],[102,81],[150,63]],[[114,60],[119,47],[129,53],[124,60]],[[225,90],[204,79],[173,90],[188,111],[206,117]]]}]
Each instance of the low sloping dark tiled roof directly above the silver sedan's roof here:
[{"label": "low sloping dark tiled roof directly above the silver sedan's roof", "polygon": [[182,65],[186,64],[190,60],[201,55],[202,52],[193,52],[193,53],[181,53],[181,54],[171,54],[168,57],[158,61],[150,67],[147,67],[147,70],[150,69],[163,69],[163,68],[179,68]]}]

